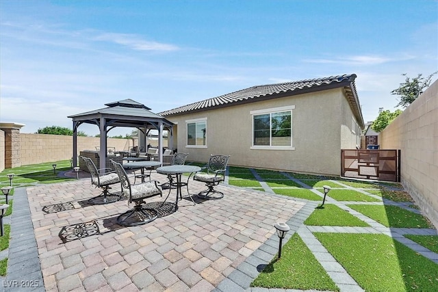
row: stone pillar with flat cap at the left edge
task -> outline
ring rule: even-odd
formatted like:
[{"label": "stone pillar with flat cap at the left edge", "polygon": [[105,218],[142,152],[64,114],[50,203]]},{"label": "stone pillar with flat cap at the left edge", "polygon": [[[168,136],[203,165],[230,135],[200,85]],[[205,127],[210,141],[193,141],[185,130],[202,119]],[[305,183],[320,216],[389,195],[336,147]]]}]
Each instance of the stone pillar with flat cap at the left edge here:
[{"label": "stone pillar with flat cap at the left edge", "polygon": [[5,168],[21,166],[20,129],[25,124],[0,122],[0,129],[5,132]]}]

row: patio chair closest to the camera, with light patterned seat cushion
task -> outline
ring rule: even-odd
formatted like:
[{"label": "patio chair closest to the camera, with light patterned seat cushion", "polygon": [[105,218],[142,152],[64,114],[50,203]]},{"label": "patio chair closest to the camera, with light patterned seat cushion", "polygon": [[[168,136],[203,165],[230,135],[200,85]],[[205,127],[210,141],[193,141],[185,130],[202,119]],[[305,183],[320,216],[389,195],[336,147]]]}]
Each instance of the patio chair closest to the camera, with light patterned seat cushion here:
[{"label": "patio chair closest to the camera, with light patterned seat cushion", "polygon": [[162,191],[157,186],[157,181],[147,181],[146,183],[131,184],[123,166],[112,161],[120,185],[122,196],[128,199],[128,205],[134,202],[135,206],[117,217],[117,223],[122,226],[136,226],[149,223],[158,217],[158,211],[153,208],[144,207],[144,200],[153,196],[162,196]]}]

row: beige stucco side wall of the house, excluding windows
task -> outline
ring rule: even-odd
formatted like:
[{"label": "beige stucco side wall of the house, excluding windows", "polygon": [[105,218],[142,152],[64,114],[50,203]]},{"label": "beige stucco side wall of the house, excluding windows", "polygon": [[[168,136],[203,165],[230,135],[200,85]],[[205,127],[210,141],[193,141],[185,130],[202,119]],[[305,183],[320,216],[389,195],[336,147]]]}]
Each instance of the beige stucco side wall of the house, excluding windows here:
[{"label": "beige stucco side wall of the house, excluding windows", "polygon": [[[251,111],[293,105],[294,150],[252,149]],[[355,148],[352,110],[342,88],[274,98],[193,114],[170,116],[177,124],[179,152],[190,161],[207,161],[210,154],[231,155],[230,165],[339,175],[341,148]],[[207,147],[187,146],[187,120],[207,118]],[[174,135],[175,137],[175,135]]]}]

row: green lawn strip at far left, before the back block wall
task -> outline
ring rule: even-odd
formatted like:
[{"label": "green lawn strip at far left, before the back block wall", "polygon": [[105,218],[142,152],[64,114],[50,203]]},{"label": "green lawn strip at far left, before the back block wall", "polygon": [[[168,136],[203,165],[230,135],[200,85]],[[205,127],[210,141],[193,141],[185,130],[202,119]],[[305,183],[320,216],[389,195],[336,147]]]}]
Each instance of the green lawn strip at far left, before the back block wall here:
[{"label": "green lawn strip at far left, before the back block wall", "polygon": [[[56,164],[56,170],[53,172],[52,164]],[[14,173],[12,179],[14,186],[31,184],[31,183],[60,183],[62,181],[70,181],[75,178],[62,178],[57,176],[57,173],[70,170],[70,160],[23,165],[18,168],[7,168],[0,172],[0,187],[10,185],[10,181],[6,174]],[[6,178],[6,179],[4,179]]]}]

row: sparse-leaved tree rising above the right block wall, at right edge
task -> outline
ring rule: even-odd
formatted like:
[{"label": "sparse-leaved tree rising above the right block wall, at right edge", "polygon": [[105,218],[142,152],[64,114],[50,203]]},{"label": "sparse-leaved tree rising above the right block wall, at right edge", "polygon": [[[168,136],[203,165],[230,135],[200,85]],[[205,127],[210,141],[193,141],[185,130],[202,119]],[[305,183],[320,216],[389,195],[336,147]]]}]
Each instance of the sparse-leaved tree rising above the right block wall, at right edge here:
[{"label": "sparse-leaved tree rising above the right block wall, at right edge", "polygon": [[415,101],[415,99],[417,99],[417,97],[429,87],[433,75],[437,74],[437,72],[438,71],[433,72],[427,78],[424,78],[421,74],[419,74],[413,79],[407,77],[406,73],[402,74],[402,76],[406,76],[406,80],[404,80],[404,83],[400,83],[400,86],[397,89],[391,91],[391,94],[400,96],[400,102],[398,105],[396,105],[396,107],[399,105],[402,107],[407,107],[413,103],[413,101]]}]

